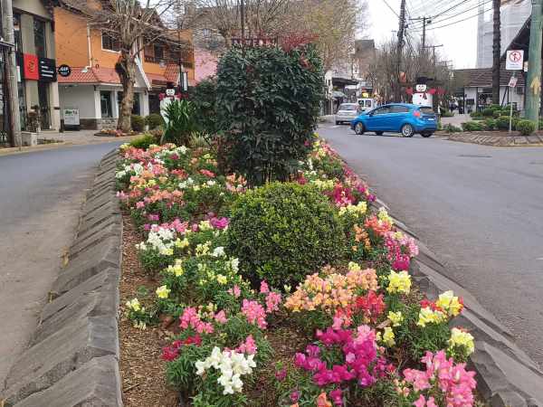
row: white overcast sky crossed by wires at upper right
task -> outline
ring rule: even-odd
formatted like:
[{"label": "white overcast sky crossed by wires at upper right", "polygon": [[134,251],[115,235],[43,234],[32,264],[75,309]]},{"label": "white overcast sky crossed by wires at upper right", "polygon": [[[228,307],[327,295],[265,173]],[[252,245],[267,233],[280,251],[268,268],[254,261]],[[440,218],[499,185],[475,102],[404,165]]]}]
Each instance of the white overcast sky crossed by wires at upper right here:
[{"label": "white overcast sky crossed by wires at upper right", "polygon": [[[367,0],[368,18],[367,30],[364,33],[364,38],[374,39],[376,45],[386,42],[392,35],[396,35],[398,29],[398,17],[386,6],[390,5],[395,13],[399,14],[401,0]],[[458,1],[449,0],[447,5],[454,5]],[[472,7],[477,5],[475,0],[469,2]],[[443,11],[447,5],[442,0],[407,0],[407,9],[412,14],[411,17],[422,17],[435,14],[435,4],[438,4],[439,11]],[[441,5],[441,6],[439,6]],[[412,10],[410,11],[410,6]],[[458,10],[458,9],[457,9]],[[461,16],[454,17],[454,14],[459,14],[463,10],[452,10],[441,18],[451,17],[447,23],[452,23],[462,18],[470,17],[477,14],[477,9],[466,11]],[[413,23],[411,23],[413,25]],[[444,25],[435,24],[434,26]],[[420,24],[416,24],[420,25]],[[443,47],[436,48],[436,53],[440,56],[440,61],[451,61],[449,66],[455,69],[474,68],[477,56],[477,17],[467,19],[458,24],[452,24],[447,27],[430,30],[432,24],[428,25],[426,33],[426,43],[428,45],[440,45]],[[412,38],[417,38],[420,41],[422,33],[407,29]],[[394,31],[395,33],[392,33]]]}]

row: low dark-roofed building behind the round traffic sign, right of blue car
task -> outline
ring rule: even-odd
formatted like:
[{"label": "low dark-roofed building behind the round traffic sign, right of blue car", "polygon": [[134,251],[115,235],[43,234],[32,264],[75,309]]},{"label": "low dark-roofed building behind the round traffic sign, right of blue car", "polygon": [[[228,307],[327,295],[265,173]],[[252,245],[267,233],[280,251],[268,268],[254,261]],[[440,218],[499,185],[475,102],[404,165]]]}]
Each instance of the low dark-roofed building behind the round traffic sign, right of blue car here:
[{"label": "low dark-roofed building behind the round traffic sign, right of blue car", "polygon": [[[492,69],[476,68],[471,70],[455,70],[454,80],[459,83],[455,97],[466,113],[474,110],[482,111],[492,103]],[[513,104],[513,109],[524,109],[524,77],[518,75],[515,88],[510,88],[511,71],[505,70],[505,63],[500,69],[500,105]]]}]

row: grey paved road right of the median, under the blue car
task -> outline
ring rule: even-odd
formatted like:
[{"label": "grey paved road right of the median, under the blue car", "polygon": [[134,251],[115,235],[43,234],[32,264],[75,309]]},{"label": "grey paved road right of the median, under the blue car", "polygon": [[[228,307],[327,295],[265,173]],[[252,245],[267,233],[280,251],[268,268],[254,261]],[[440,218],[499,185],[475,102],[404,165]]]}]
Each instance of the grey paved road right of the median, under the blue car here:
[{"label": "grey paved road right of the median, under the blue car", "polygon": [[543,367],[543,148],[319,134]]}]

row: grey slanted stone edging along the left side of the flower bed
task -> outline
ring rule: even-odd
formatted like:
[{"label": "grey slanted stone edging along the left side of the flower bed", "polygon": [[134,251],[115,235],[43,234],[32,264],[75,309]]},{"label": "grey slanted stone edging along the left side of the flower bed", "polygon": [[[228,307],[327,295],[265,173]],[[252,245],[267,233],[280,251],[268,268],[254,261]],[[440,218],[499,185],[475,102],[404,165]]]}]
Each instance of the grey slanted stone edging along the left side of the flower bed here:
[{"label": "grey slanted stone edging along the left side of the flower bed", "polygon": [[[4,407],[122,407],[119,279],[122,216],[117,149],[100,161],[70,261],[52,285],[28,348],[4,383]],[[4,403],[2,403],[4,402]]]}]

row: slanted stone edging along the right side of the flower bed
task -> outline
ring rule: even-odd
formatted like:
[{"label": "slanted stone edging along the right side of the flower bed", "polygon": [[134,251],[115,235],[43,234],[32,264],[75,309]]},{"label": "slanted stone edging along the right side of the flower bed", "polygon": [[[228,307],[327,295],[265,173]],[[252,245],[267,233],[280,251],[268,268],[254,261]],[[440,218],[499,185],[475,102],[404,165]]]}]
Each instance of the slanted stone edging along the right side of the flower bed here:
[{"label": "slanted stone edging along the right side of the flower bed", "polygon": [[[388,206],[380,200],[375,208]],[[466,327],[475,338],[475,352],[468,367],[477,373],[477,388],[492,407],[543,407],[543,373],[526,355],[506,327],[481,306],[470,292],[447,278],[447,270],[403,222],[396,227],[414,237],[419,255],[411,262],[410,273],[417,286],[431,300],[452,289],[464,300],[464,310],[451,326]]]}]

